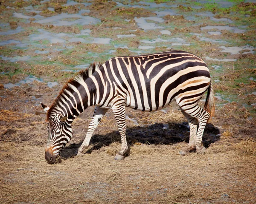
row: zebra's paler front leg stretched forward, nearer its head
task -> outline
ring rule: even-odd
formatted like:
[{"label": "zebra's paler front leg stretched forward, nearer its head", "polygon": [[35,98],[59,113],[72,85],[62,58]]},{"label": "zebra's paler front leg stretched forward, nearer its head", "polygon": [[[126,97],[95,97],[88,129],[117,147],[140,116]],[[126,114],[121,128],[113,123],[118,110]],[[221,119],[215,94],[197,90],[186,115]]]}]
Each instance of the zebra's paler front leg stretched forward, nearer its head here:
[{"label": "zebra's paler front leg stretched forward, nearer its head", "polygon": [[89,146],[90,139],[93,136],[93,132],[98,126],[99,122],[101,121],[102,117],[107,113],[108,109],[106,108],[99,108],[95,107],[94,113],[93,113],[93,118],[90,121],[90,125],[87,130],[87,134],[84,138],[84,142],[81,144],[81,146],[78,149],[77,156],[84,156],[84,149],[86,149]]}]

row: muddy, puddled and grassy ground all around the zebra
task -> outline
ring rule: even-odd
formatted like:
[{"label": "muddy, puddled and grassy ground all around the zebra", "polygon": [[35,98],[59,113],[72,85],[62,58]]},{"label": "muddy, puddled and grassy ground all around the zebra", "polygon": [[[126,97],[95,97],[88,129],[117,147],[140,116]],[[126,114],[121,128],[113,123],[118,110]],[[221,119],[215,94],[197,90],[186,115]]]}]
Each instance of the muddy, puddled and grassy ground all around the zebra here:
[{"label": "muddy, puddled and grassy ground all around the zebra", "polygon": [[[255,1],[0,1],[0,203],[256,203]],[[206,154],[180,156],[189,127],[173,103],[127,109],[129,150],[113,113],[83,157],[93,107],[73,122],[58,164],[47,164],[50,105],[64,83],[94,61],[169,50],[202,57],[216,112]],[[204,101],[201,101],[204,104]]]}]

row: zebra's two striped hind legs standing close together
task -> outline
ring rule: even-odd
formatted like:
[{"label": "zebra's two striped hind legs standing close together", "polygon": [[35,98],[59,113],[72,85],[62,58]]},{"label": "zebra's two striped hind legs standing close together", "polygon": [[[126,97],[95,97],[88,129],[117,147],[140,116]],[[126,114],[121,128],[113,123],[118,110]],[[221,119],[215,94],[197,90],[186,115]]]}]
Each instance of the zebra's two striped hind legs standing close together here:
[{"label": "zebra's two striped hind legs standing close together", "polygon": [[[189,137],[189,147],[186,147],[185,150],[195,148],[196,152],[199,154],[204,154],[205,147],[202,143],[204,128],[209,119],[210,114],[205,111],[203,108],[196,105],[194,108],[189,108],[187,110],[182,110],[182,113],[186,116],[190,126],[190,137]],[[198,121],[199,126],[195,125],[195,121]],[[194,121],[194,124],[191,122]],[[190,141],[192,139],[192,141]],[[186,152],[186,151],[184,151]],[[182,154],[183,151],[181,150]],[[183,154],[182,154],[183,155]]]}]

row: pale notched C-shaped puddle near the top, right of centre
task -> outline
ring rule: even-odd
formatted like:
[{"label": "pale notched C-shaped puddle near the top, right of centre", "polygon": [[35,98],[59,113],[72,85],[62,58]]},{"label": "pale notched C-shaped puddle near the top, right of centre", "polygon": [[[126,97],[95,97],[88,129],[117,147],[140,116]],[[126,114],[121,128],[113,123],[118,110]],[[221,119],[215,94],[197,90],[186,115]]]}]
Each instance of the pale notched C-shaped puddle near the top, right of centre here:
[{"label": "pale notched C-shaped puddle near the top, right of centre", "polygon": [[144,30],[151,30],[157,28],[164,28],[163,26],[157,26],[156,23],[148,23],[147,20],[155,21],[157,23],[163,23],[163,18],[160,17],[140,17],[134,18],[135,22],[137,23],[138,27]]}]

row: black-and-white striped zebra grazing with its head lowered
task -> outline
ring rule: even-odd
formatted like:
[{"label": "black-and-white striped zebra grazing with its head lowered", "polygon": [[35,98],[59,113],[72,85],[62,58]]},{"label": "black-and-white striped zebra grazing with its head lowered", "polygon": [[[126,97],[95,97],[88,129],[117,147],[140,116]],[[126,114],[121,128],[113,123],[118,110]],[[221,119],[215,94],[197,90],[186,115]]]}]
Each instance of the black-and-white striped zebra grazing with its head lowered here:
[{"label": "black-and-white striped zebra grazing with its head lowered", "polygon": [[[201,108],[198,103],[206,91],[205,105]],[[104,64],[94,62],[64,85],[50,107],[41,103],[48,122],[45,159],[49,164],[55,163],[61,150],[72,139],[73,120],[93,105],[93,117],[77,156],[84,156],[83,151],[89,146],[93,131],[108,109],[112,109],[122,143],[114,159],[122,160],[128,150],[125,107],[158,111],[173,100],[190,127],[189,143],[180,154],[186,155],[194,150],[203,154],[204,128],[215,111],[212,82],[203,59],[185,51],[168,51],[113,57]]]}]

